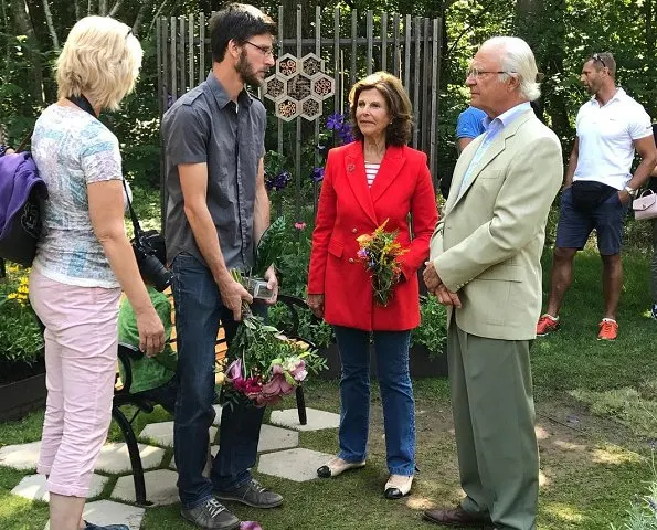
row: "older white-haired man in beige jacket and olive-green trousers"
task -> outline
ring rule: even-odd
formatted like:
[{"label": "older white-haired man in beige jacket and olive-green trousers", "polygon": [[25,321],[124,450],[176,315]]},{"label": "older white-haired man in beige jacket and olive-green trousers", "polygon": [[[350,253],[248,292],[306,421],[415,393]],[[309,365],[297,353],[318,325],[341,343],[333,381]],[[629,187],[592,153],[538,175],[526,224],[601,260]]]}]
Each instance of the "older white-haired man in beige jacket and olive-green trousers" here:
[{"label": "older white-haired man in beige jacket and olive-green trousers", "polygon": [[468,71],[487,131],[468,145],[431,243],[428,289],[448,310],[448,361],[460,484],[446,526],[536,528],[539,455],[529,347],[541,308],[540,257],[563,178],[557,136],[534,116],[530,47],[486,41]]}]

